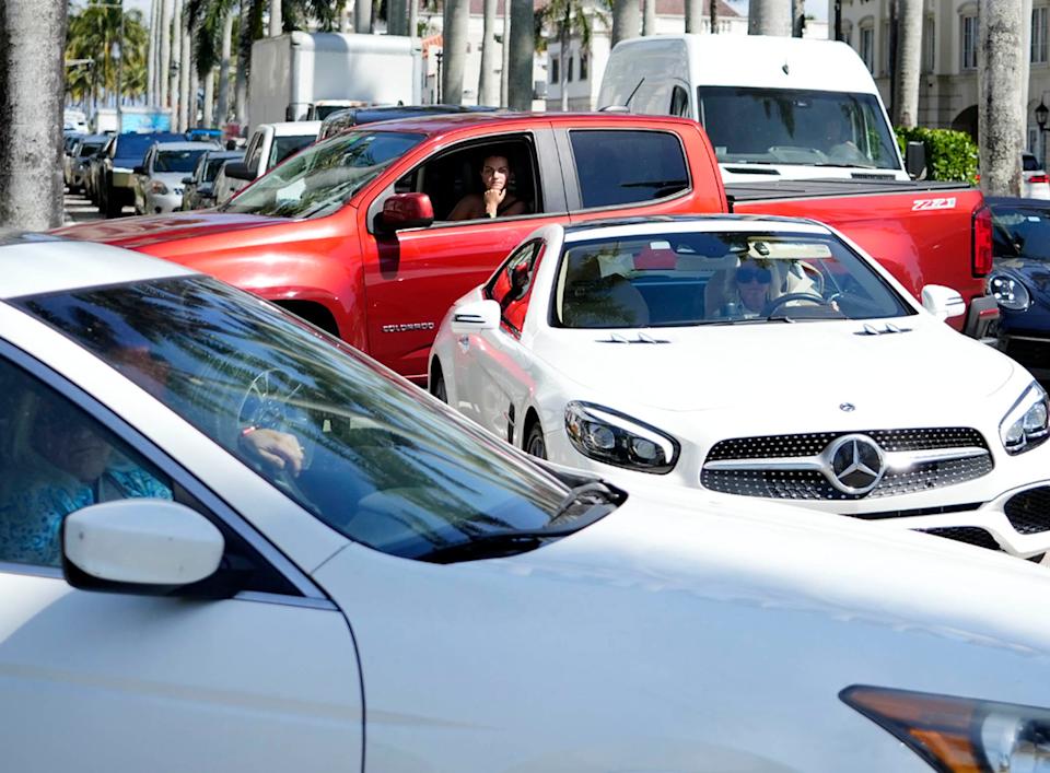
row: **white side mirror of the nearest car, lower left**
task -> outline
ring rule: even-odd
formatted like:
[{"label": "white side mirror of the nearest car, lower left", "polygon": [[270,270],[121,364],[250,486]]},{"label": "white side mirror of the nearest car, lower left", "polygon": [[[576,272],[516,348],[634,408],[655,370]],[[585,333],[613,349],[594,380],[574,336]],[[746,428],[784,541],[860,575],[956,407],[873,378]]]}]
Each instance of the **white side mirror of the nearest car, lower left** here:
[{"label": "white side mirror of the nearest car, lower left", "polygon": [[73,587],[142,594],[210,577],[225,550],[222,532],[200,513],[148,499],[71,513],[62,522],[61,546],[62,570]]}]

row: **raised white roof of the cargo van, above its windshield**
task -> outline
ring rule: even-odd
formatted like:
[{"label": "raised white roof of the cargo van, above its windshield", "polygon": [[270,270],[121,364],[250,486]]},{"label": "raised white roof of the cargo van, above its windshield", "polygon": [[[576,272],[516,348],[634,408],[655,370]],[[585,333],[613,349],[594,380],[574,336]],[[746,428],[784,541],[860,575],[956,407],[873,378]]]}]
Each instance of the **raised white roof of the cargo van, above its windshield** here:
[{"label": "raised white roof of the cargo van, above its windshield", "polygon": [[[652,35],[612,49],[605,80],[684,78],[693,86],[725,85],[873,94],[875,82],[848,44],[763,35]],[[620,90],[617,90],[620,91]],[[630,91],[630,90],[628,90]]]}]

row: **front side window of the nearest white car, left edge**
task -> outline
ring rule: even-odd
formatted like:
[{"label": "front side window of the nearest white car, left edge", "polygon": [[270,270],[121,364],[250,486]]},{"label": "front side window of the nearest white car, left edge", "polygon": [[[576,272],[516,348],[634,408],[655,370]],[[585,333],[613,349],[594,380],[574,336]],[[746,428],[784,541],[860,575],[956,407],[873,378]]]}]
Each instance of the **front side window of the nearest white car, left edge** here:
[{"label": "front side window of the nearest white car, left edge", "polygon": [[0,360],[0,561],[59,566],[82,507],[172,499],[172,481],[81,408]]}]

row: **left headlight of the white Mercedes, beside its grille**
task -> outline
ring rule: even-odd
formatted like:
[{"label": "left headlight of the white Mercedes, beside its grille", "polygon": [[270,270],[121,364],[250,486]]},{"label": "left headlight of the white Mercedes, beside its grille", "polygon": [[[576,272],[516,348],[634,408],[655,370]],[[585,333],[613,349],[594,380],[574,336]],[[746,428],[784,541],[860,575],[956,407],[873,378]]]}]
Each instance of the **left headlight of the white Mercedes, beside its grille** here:
[{"label": "left headlight of the white Mercedes, beside its grille", "polygon": [[674,437],[602,406],[570,402],[565,432],[576,450],[607,465],[663,475],[678,461]]}]

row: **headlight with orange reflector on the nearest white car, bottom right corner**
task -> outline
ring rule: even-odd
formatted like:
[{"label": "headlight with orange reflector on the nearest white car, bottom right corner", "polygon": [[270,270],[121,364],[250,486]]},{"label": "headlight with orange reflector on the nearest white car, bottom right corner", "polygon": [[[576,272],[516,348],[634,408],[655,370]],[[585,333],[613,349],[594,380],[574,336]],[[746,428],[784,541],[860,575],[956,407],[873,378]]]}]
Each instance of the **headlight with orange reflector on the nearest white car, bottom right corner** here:
[{"label": "headlight with orange reflector on the nearest white car, bottom right corner", "polygon": [[1012,703],[853,686],[843,703],[945,773],[1050,771],[1050,711]]}]

